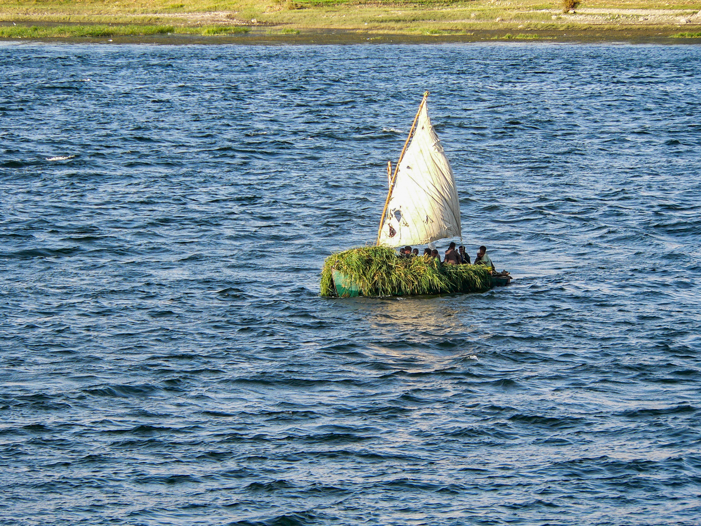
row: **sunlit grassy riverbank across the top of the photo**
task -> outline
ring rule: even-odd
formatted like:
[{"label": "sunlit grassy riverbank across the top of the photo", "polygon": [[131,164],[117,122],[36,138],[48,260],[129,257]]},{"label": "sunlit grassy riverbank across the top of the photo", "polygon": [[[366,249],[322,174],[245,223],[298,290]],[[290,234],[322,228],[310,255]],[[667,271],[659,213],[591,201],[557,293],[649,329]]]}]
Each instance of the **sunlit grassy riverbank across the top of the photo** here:
[{"label": "sunlit grassy riverbank across the top of the photo", "polygon": [[0,23],[4,25],[0,38],[231,36],[253,28],[258,34],[264,29],[278,36],[329,31],[359,32],[368,38],[497,32],[493,36],[498,39],[558,39],[558,32],[618,36],[628,31],[693,39],[701,33],[701,0],[569,0],[569,4],[563,0],[6,0],[0,6]]}]

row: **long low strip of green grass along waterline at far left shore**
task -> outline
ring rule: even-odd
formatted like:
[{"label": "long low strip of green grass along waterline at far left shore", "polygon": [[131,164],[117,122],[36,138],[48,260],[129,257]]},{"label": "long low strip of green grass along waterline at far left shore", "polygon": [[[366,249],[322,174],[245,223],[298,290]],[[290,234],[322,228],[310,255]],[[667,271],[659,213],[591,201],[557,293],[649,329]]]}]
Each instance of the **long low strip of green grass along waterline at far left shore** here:
[{"label": "long low strip of green grass along waterline at far left shore", "polygon": [[55,26],[6,26],[0,27],[0,38],[5,39],[41,39],[41,38],[80,38],[100,36],[153,35],[153,34],[201,34],[230,35],[250,31],[248,27],[238,26],[202,26],[174,27],[172,25],[55,25]]}]

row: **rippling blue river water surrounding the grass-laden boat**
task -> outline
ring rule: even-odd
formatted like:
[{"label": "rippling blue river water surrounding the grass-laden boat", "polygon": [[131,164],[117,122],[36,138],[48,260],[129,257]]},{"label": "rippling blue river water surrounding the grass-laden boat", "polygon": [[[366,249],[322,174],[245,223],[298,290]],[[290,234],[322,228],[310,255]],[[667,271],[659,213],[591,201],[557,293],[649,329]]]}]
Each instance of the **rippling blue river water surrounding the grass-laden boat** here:
[{"label": "rippling blue river water surrounding the grass-laden boat", "polygon": [[[701,524],[701,46],[0,72],[1,525]],[[468,252],[516,279],[319,297],[423,90]]]}]

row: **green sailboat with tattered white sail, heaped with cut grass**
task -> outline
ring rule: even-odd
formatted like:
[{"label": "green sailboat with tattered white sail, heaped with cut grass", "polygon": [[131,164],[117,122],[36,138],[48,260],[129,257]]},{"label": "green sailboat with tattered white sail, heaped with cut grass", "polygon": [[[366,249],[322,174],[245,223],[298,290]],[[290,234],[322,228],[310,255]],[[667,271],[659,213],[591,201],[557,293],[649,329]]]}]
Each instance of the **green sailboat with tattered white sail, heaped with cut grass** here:
[{"label": "green sailboat with tattered white sail, heaped with cut grass", "polygon": [[321,295],[416,295],[483,292],[507,285],[508,273],[492,275],[482,265],[445,265],[430,257],[397,257],[405,245],[461,238],[460,200],[455,177],[428,117],[423,94],[399,160],[387,164],[389,190],[374,246],[327,257]]}]

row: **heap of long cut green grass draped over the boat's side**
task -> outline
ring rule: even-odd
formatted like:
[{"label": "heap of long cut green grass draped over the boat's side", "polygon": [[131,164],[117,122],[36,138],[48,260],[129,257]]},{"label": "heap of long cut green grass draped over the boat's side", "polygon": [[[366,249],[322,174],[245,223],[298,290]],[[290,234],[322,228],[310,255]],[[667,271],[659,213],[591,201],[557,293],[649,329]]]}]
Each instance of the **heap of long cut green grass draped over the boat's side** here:
[{"label": "heap of long cut green grass draped over the boat's side", "polygon": [[482,265],[442,265],[430,257],[397,257],[392,248],[362,247],[326,258],[322,296],[336,296],[332,269],[346,274],[363,296],[484,292],[491,286],[489,269]]}]

